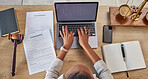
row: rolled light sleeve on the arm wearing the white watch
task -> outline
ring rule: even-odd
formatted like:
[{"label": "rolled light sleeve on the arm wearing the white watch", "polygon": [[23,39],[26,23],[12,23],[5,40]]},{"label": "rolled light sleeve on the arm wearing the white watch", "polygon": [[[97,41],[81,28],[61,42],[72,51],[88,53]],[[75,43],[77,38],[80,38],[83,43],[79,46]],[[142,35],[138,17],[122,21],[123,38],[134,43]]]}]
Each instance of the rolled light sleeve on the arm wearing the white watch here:
[{"label": "rolled light sleeve on the arm wearing the white watch", "polygon": [[45,79],[57,79],[60,70],[62,68],[63,61],[59,58],[55,58],[50,65],[49,69],[46,71]]}]

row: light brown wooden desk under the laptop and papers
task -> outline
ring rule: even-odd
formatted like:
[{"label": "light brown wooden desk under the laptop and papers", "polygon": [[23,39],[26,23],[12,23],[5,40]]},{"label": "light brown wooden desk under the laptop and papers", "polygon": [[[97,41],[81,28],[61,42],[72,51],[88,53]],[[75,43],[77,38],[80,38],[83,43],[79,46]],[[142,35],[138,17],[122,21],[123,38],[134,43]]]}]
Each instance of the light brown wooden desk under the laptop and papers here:
[{"label": "light brown wooden desk under the laptop and papers", "polygon": [[[18,23],[20,27],[20,33],[25,33],[25,23],[26,23],[26,12],[30,11],[47,11],[54,10],[53,6],[49,5],[0,5],[0,10],[8,9],[14,7],[16,10]],[[102,43],[102,29],[103,25],[109,24],[109,7],[100,6],[97,16],[97,32],[98,32],[98,48],[94,49],[96,53],[102,57],[101,46]],[[56,29],[56,19],[54,12],[54,27]],[[56,33],[56,32],[55,32]],[[115,27],[113,28],[113,42],[124,42],[139,40],[143,50],[144,58],[148,66],[148,28],[147,27]],[[16,61],[16,75],[14,77],[10,76],[11,71],[11,61],[12,61],[12,51],[13,44],[6,37],[0,37],[0,79],[43,79],[45,77],[45,72],[37,73],[34,75],[29,75],[25,52],[23,44],[17,46],[17,61]],[[58,53],[59,50],[56,50]],[[138,63],[138,62],[137,62]],[[70,67],[83,64],[95,73],[93,64],[88,56],[85,54],[83,49],[70,49],[69,53],[65,57],[63,68],[61,73],[65,73]],[[131,79],[147,79],[148,69],[136,70],[129,72]],[[115,79],[126,79],[126,73],[116,73],[113,74]]]}]

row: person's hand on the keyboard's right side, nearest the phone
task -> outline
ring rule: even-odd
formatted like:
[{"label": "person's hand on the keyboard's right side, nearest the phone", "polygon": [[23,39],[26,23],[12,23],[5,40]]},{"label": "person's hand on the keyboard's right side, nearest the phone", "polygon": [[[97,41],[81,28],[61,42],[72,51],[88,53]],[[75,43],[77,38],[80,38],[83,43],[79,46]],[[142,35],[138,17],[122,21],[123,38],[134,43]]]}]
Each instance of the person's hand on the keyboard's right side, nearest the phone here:
[{"label": "person's hand on the keyboard's right side, nearest the phone", "polygon": [[85,46],[89,45],[88,38],[89,38],[90,31],[88,30],[88,33],[87,33],[86,27],[84,27],[84,30],[82,28],[80,28],[80,30],[78,29],[79,44],[84,48]]}]

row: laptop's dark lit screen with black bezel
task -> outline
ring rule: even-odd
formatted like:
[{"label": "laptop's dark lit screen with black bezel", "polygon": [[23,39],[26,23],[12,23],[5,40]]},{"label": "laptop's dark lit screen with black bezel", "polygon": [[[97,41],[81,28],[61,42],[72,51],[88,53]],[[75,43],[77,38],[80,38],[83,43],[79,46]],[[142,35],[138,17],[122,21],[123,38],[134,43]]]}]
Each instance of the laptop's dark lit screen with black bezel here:
[{"label": "laptop's dark lit screen with black bezel", "polygon": [[58,22],[96,21],[98,2],[55,3]]}]

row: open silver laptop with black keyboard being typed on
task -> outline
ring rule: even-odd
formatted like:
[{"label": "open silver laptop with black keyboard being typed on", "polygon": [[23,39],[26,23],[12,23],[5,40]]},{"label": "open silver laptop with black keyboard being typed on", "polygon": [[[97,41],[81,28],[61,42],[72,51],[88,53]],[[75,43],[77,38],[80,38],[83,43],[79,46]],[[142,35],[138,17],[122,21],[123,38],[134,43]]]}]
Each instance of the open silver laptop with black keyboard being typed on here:
[{"label": "open silver laptop with black keyboard being typed on", "polygon": [[78,43],[77,29],[83,28],[90,30],[89,44],[92,48],[98,47],[96,17],[98,11],[98,2],[58,2],[55,3],[55,12],[57,19],[56,28],[56,48],[63,45],[63,39],[60,36],[62,26],[68,27],[68,32],[73,31],[74,41],[71,48],[81,48]]}]

